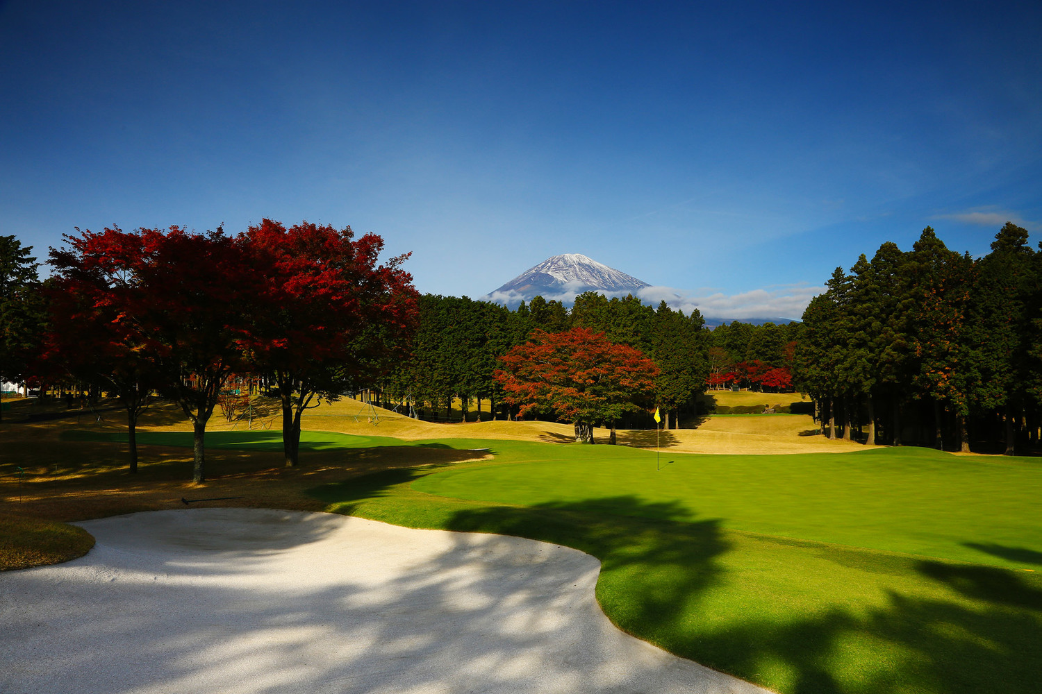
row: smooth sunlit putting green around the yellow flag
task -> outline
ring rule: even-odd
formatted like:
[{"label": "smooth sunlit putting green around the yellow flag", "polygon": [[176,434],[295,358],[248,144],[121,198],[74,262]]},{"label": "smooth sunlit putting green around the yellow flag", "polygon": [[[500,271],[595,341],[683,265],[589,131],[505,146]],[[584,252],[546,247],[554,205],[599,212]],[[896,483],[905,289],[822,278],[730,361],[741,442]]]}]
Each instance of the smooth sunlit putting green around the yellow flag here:
[{"label": "smooth sunlit putting green around the yellow flag", "polygon": [[651,512],[672,520],[714,518],[733,530],[994,566],[1033,568],[1042,560],[1042,464],[1032,459],[928,448],[663,454],[656,470],[653,452],[591,452],[593,459],[445,470],[415,488],[528,507],[581,500],[606,513],[614,497],[631,494],[646,509],[668,509]]}]

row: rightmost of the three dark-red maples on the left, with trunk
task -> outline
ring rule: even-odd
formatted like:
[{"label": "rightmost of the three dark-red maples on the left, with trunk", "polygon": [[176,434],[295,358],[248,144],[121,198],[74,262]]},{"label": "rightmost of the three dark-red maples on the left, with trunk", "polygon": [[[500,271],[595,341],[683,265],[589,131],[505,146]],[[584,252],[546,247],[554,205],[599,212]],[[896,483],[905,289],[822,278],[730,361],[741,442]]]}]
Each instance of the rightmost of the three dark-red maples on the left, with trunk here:
[{"label": "rightmost of the three dark-red maples on the left, with trunk", "polygon": [[241,236],[257,282],[247,354],[282,408],[286,464],[299,460],[300,417],[318,396],[368,385],[403,356],[418,293],[400,265],[379,264],[383,239],[308,222],[264,220]]}]

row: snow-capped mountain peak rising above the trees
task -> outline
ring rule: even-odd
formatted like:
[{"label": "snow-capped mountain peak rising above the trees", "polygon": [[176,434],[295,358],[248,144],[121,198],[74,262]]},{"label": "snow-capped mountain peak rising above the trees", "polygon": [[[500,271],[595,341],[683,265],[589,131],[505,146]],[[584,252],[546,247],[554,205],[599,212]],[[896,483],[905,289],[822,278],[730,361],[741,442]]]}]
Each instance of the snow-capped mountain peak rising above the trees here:
[{"label": "snow-capped mountain peak rising above the trees", "polygon": [[648,286],[651,285],[585,255],[566,253],[529,267],[490,292],[489,299],[515,304],[542,294],[546,299],[562,299],[570,304],[576,294],[584,291],[636,293],[638,289]]}]

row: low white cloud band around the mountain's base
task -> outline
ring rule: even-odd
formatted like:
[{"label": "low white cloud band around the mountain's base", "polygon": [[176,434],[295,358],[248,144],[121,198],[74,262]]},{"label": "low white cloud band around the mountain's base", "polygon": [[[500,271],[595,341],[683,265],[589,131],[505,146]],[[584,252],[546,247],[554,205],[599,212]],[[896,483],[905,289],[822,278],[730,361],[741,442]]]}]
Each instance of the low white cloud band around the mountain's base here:
[{"label": "low white cloud band around the mountain's base", "polygon": [[[559,293],[543,294],[547,301],[561,301],[571,304],[575,297],[582,292],[581,287],[562,287]],[[723,292],[699,293],[685,289],[666,286],[649,286],[639,289],[636,293],[645,304],[658,306],[661,302],[673,310],[681,310],[691,314],[692,309],[698,309],[708,318],[791,318],[798,320],[803,309],[815,295],[824,291],[823,286],[805,284],[779,285],[743,291],[737,294]],[[628,291],[600,292],[605,297],[624,297]],[[523,297],[517,291],[494,291],[481,299],[505,304],[518,305]]]}]

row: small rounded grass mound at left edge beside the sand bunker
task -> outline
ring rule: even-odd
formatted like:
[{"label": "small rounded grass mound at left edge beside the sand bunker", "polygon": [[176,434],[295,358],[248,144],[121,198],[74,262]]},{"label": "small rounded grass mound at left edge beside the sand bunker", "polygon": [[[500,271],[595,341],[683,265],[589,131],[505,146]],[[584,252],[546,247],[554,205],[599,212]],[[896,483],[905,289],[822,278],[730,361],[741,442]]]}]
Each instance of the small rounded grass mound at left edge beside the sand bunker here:
[{"label": "small rounded grass mound at left edge beside the sand bunker", "polygon": [[68,562],[93,546],[82,528],[0,513],[0,571]]}]

